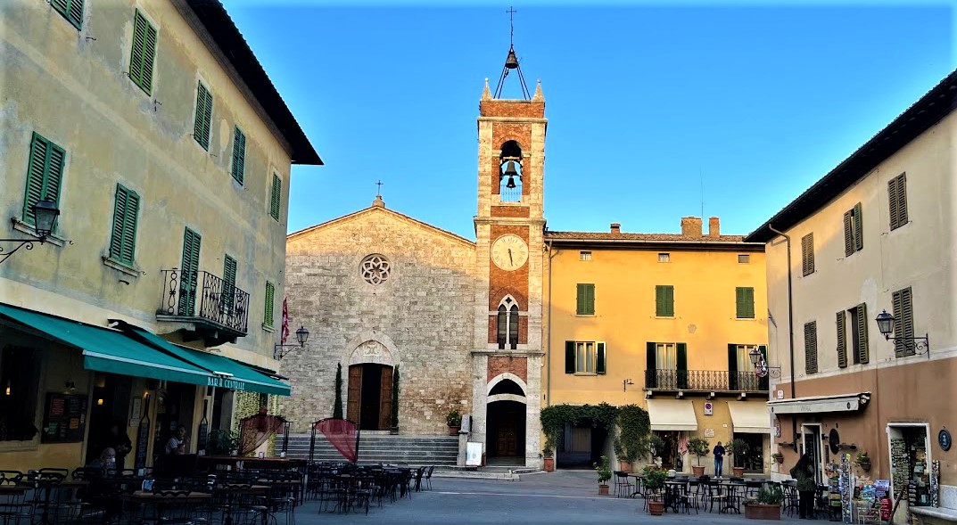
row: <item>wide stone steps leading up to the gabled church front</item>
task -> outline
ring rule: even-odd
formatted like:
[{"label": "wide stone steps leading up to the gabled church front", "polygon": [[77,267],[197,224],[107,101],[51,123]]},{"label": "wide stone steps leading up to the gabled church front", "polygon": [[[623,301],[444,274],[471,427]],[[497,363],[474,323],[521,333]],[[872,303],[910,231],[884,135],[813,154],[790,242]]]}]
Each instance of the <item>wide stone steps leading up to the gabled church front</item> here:
[{"label": "wide stone steps leading up to the gabled church front", "polygon": [[[289,436],[286,456],[308,459],[309,434]],[[315,461],[342,461],[343,456],[322,434],[316,435]],[[360,434],[359,463],[408,463],[409,465],[455,466],[457,436],[393,436]]]}]

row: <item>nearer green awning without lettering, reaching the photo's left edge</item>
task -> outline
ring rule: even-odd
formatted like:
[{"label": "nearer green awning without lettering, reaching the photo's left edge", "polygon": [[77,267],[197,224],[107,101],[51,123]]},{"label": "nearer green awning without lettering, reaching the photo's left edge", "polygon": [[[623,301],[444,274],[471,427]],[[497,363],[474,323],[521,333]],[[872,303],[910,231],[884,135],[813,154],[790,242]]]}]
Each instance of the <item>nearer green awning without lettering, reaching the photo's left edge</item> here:
[{"label": "nearer green awning without lettering, reaching the photo's left edge", "polygon": [[82,350],[83,367],[87,370],[191,384],[208,384],[215,379],[208,370],[176,359],[116,330],[3,303],[0,303],[0,317]]}]

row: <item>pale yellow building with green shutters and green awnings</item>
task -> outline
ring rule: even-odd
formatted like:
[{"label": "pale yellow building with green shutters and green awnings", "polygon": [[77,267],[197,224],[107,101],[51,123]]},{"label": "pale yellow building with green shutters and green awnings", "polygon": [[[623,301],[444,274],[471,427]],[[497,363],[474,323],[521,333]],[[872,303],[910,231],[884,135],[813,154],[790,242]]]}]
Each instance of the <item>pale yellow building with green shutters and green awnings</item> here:
[{"label": "pale yellow building with green shutters and green awnings", "polygon": [[127,468],[179,425],[195,452],[235,392],[289,393],[290,164],[322,162],[219,3],[2,12],[0,464],[76,468],[113,424]]}]

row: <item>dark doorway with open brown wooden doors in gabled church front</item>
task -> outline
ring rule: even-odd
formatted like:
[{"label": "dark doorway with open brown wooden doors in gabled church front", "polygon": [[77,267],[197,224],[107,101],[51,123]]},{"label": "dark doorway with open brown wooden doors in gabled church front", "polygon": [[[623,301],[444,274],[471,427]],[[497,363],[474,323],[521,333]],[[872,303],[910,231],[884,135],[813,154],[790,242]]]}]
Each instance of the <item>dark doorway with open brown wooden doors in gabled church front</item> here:
[{"label": "dark doorway with open brown wooden doors in gabled church front", "polygon": [[363,430],[388,430],[392,415],[392,367],[365,362],[349,365],[345,417]]}]

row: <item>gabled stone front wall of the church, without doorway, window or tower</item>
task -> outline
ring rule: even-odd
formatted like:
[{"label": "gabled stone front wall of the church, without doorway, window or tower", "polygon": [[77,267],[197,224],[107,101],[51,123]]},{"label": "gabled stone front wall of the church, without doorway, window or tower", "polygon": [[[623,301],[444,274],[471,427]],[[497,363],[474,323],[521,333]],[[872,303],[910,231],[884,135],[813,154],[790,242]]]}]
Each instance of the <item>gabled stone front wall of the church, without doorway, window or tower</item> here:
[{"label": "gabled stone front wall of the church, without doorway, window or tower", "polygon": [[[305,325],[304,351],[283,358],[293,395],[283,415],[294,431],[330,417],[336,363],[367,340],[400,364],[399,429],[442,434],[454,405],[471,411],[475,244],[385,208],[368,208],[290,236],[286,290],[291,325]],[[368,284],[360,263],[380,253],[389,279]],[[344,405],[345,412],[345,405]]]}]

